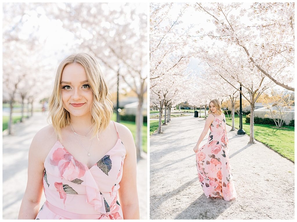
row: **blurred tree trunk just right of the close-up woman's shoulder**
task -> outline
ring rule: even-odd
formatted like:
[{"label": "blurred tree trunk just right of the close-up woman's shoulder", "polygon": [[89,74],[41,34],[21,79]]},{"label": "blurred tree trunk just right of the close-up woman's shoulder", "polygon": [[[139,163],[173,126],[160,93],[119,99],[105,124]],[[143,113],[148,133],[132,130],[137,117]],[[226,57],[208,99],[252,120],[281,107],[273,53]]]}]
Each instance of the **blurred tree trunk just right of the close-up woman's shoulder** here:
[{"label": "blurred tree trunk just right of the close-up woman's shoulder", "polygon": [[142,115],[142,106],[143,106],[143,96],[138,97],[138,106],[135,116],[136,123],[136,156],[141,158],[142,151],[142,126],[143,126],[143,115]]}]

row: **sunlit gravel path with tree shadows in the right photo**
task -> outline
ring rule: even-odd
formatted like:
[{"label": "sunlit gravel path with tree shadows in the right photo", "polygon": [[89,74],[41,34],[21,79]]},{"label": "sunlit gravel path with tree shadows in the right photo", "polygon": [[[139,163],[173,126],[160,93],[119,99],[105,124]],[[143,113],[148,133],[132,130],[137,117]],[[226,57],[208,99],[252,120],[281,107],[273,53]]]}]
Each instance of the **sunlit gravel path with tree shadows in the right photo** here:
[{"label": "sunlit gravel path with tree shadows in the right photo", "polygon": [[[195,146],[203,118],[172,118],[150,137],[150,219],[294,219],[294,163],[227,125],[238,198],[207,199],[197,177]],[[201,142],[206,143],[208,133]]]}]

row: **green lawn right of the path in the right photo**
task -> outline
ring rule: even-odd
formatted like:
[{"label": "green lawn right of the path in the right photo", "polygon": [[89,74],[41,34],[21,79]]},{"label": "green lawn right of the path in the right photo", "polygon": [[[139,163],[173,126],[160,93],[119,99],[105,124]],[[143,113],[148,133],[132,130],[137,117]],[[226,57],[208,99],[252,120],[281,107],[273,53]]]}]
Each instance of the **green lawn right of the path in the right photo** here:
[{"label": "green lawn right of the path in the right photo", "polygon": [[[242,118],[242,128],[249,135],[249,123],[245,123],[245,116]],[[232,125],[232,120],[227,118],[228,125]],[[239,117],[235,115],[234,126],[239,128]],[[256,140],[268,145],[282,156],[294,160],[294,130],[293,126],[284,126],[278,129],[275,125],[254,124],[254,137]]]}]

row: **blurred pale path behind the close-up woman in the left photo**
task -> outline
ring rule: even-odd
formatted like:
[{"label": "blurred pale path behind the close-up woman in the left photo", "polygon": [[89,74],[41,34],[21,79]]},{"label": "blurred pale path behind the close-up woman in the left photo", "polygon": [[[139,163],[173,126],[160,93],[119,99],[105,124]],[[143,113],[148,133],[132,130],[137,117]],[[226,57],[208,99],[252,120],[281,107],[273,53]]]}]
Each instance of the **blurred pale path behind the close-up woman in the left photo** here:
[{"label": "blurred pale path behind the close-up woman in the left photo", "polygon": [[[28,151],[34,135],[47,125],[46,114],[34,113],[14,125],[13,136],[3,136],[3,219],[17,219],[27,185]],[[147,158],[137,163],[140,219],[147,219]],[[45,201],[42,195],[41,203]],[[41,207],[41,206],[40,206]]]}]

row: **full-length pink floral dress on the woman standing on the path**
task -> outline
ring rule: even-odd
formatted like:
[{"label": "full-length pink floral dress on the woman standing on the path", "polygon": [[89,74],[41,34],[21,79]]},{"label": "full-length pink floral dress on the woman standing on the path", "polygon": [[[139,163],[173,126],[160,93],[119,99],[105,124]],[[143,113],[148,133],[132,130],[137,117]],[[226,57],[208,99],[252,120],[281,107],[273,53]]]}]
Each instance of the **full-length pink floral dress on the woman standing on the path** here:
[{"label": "full-length pink floral dress on the woman standing on the path", "polygon": [[228,201],[235,199],[237,195],[229,163],[229,141],[225,124],[225,116],[223,120],[215,116],[209,127],[207,143],[196,152],[196,167],[206,197],[223,197]]}]

